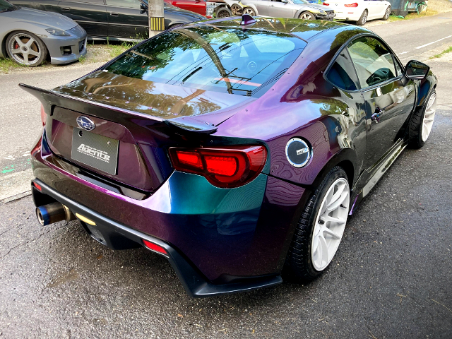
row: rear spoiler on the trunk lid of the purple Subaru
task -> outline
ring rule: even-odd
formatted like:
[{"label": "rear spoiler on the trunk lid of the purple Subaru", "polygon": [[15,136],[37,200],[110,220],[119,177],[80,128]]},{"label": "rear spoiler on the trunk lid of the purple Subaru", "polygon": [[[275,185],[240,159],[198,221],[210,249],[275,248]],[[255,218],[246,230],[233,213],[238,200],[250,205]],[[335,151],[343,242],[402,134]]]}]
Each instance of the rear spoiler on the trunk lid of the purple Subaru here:
[{"label": "rear spoiler on the trunk lid of the purple Subaru", "polygon": [[[206,121],[197,119],[195,117],[177,117],[174,119],[162,119],[151,114],[131,111],[120,107],[102,104],[101,102],[86,100],[81,97],[72,97],[63,93],[57,93],[53,90],[44,90],[34,86],[19,83],[19,87],[27,91],[31,95],[37,97],[44,106],[45,112],[49,114],[55,106],[72,109],[81,114],[93,115],[107,120],[112,120],[112,113],[118,116],[126,117],[135,116],[138,119],[159,121],[174,129],[181,134],[201,133],[212,134],[217,131],[218,127],[209,124]],[[83,113],[82,113],[83,112]],[[119,117],[120,118],[120,117]]]}]

